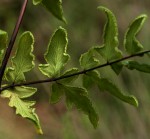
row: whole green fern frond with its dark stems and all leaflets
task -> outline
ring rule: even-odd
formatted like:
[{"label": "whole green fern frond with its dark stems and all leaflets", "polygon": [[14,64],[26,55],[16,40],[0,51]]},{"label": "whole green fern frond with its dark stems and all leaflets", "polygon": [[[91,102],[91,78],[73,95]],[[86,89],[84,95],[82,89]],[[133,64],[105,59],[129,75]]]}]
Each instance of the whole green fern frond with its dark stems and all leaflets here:
[{"label": "whole green fern frond with its dark stems and all leaflets", "polygon": [[[31,87],[32,85],[46,82],[50,83],[50,103],[57,103],[62,97],[65,97],[67,107],[69,109],[76,107],[85,113],[94,128],[98,126],[99,115],[93,107],[92,103],[94,102],[88,95],[88,90],[93,85],[98,86],[99,91],[106,91],[123,102],[135,107],[138,106],[135,96],[123,93],[110,79],[102,77],[98,69],[109,66],[116,75],[119,75],[123,68],[150,73],[150,65],[147,63],[130,60],[133,57],[147,56],[150,58],[150,50],[144,50],[144,47],[136,38],[147,15],[142,14],[129,24],[124,35],[123,52],[118,48],[118,27],[115,15],[108,8],[99,6],[98,10],[105,13],[107,17],[103,29],[103,43],[91,47],[81,55],[79,59],[80,69],[73,67],[65,70],[65,66],[70,60],[70,55],[67,53],[68,35],[65,28],[58,27],[50,37],[44,54],[45,63],[38,65],[41,74],[46,76],[47,79],[26,81],[25,73],[30,72],[35,67],[34,36],[30,31],[22,33],[19,37],[16,53],[11,57],[11,66],[8,67],[7,63],[27,3],[28,0],[24,0],[11,38],[8,38],[6,31],[0,30],[0,96],[9,99],[8,105],[15,108],[17,115],[31,120],[37,132],[43,134],[38,115],[33,107],[36,102],[27,99],[37,91],[37,88]],[[33,5],[45,7],[47,11],[66,24],[61,0],[33,0]],[[78,78],[82,79],[80,87],[74,84],[74,81]]]}]

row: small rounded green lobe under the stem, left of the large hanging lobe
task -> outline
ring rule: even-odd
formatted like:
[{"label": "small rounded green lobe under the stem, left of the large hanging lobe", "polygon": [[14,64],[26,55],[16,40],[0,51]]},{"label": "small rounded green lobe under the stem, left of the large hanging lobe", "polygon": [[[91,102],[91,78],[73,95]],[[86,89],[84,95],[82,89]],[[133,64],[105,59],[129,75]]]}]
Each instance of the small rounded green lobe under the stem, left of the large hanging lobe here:
[{"label": "small rounded green lobe under the stem, left of the large hanging lobe", "polygon": [[51,92],[52,92],[51,97],[50,97],[51,103],[57,103],[64,95],[62,86],[61,86],[61,84],[58,84],[58,83],[52,84]]}]

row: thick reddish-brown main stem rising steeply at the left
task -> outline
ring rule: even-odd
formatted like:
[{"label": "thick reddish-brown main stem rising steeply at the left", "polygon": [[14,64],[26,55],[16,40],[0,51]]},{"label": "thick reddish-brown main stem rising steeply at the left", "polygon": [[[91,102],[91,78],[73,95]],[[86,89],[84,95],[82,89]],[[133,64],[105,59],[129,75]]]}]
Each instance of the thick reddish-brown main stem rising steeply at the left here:
[{"label": "thick reddish-brown main stem rising steeply at the left", "polygon": [[25,10],[26,10],[27,3],[28,3],[28,0],[24,0],[24,3],[22,5],[21,11],[20,11],[20,15],[18,17],[17,23],[15,25],[14,31],[11,35],[9,45],[8,45],[6,53],[5,53],[4,59],[2,61],[2,66],[1,66],[1,69],[0,69],[0,86],[1,86],[1,83],[2,83],[2,78],[3,78],[3,75],[4,75],[6,65],[8,63],[8,59],[10,57],[12,48],[14,46],[14,43],[15,43],[15,40],[16,40],[16,37],[17,37],[18,31],[19,31],[22,19],[23,19],[23,15],[24,15]]}]

